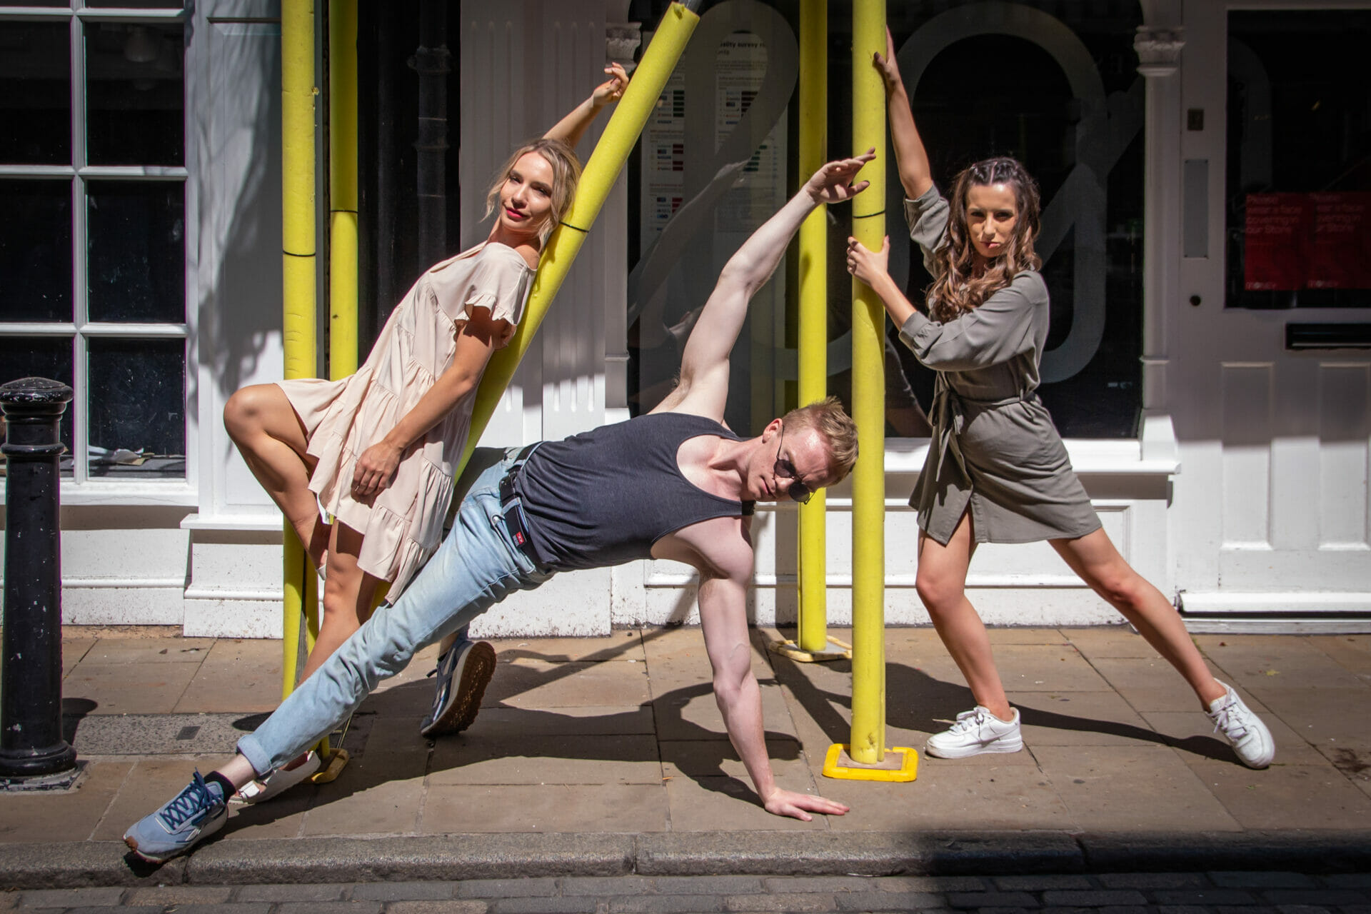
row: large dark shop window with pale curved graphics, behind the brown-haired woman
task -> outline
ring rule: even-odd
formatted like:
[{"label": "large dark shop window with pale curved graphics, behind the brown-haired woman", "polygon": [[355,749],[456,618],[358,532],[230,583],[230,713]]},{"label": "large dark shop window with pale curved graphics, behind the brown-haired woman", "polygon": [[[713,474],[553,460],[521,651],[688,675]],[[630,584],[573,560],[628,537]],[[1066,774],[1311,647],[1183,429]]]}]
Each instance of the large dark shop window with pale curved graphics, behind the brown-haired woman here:
[{"label": "large dark shop window with pale curved graphics, behind the brown-haired woman", "polygon": [[[635,0],[644,22],[659,3]],[[1142,352],[1143,77],[1137,3],[999,4],[979,16],[945,0],[888,4],[914,116],[946,190],[978,159],[1012,155],[1042,189],[1038,252],[1052,293],[1041,395],[1063,434],[1137,433]],[[795,4],[723,0],[701,25],[643,133],[629,175],[629,404],[670,389],[698,308],[738,245],[809,175],[798,174]],[[851,147],[850,8],[829,5],[828,155]],[[644,36],[644,47],[648,36]],[[987,62],[993,64],[987,66]],[[893,151],[887,148],[887,156]],[[887,167],[891,273],[916,304],[931,282],[912,252],[903,193]],[[850,392],[850,206],[828,208],[829,391]],[[794,256],[754,300],[733,351],[727,419],[757,433],[795,406]],[[934,374],[887,322],[887,436],[927,434]]]}]

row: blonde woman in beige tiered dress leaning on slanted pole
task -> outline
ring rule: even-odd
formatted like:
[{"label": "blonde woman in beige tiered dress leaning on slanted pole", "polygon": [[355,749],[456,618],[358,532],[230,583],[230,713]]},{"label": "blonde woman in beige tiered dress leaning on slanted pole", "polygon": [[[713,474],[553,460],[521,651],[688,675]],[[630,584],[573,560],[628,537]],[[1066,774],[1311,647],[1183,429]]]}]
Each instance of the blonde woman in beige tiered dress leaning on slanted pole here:
[{"label": "blonde woman in beige tiered dress leaning on slanted pole", "polygon": [[[356,374],[258,384],[229,397],[229,436],[326,570],[302,678],[366,621],[383,581],[393,600],[437,548],[481,374],[514,336],[543,244],[576,193],[572,147],[628,84],[618,64],[606,73],[543,138],[514,151],[487,197],[489,237],[424,271]],[[298,762],[277,784],[319,765],[313,752]]]}]

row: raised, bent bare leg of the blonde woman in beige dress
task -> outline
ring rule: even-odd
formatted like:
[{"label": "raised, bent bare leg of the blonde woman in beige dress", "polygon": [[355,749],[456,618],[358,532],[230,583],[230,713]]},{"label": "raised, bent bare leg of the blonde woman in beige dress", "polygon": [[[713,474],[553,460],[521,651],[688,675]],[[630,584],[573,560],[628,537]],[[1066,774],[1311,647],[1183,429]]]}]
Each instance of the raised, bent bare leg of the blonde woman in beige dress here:
[{"label": "raised, bent bare leg of the blonde woman in beige dress", "polygon": [[315,460],[306,454],[304,428],[285,391],[274,384],[241,388],[223,406],[223,428],[318,567],[329,526],[319,521],[318,502],[310,492]]}]

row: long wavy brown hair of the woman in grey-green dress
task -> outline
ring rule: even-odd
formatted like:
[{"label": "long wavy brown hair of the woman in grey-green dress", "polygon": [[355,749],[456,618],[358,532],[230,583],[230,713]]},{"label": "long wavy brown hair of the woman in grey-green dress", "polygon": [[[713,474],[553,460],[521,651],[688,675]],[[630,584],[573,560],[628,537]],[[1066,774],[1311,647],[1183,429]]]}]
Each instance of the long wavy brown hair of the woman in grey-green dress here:
[{"label": "long wavy brown hair of the woman in grey-green dress", "polygon": [[[984,273],[976,275],[976,248],[967,229],[967,192],[971,188],[993,184],[1006,184],[1013,188],[1019,221],[1015,223],[1009,244],[1005,245],[1005,252],[995,258]],[[951,208],[947,217],[947,243],[934,255],[934,282],[925,293],[928,312],[939,322],[967,314],[1008,286],[1019,273],[1042,266],[1042,258],[1032,249],[1041,215],[1038,182],[1017,159],[997,156],[962,169],[953,181],[947,203]]]}]

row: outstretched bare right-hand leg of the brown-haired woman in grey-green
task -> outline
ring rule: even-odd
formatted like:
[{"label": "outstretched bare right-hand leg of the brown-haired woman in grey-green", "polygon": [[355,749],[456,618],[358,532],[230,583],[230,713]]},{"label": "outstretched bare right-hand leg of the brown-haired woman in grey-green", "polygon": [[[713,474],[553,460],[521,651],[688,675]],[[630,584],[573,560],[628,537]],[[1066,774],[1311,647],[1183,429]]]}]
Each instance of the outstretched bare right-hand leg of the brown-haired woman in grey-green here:
[{"label": "outstretched bare right-hand leg of the brown-haired woman in grey-green", "polygon": [[1082,581],[1132,622],[1148,644],[1176,667],[1204,710],[1224,696],[1224,688],[1209,673],[1175,607],[1132,570],[1104,530],[1075,540],[1052,540],[1052,545]]}]

